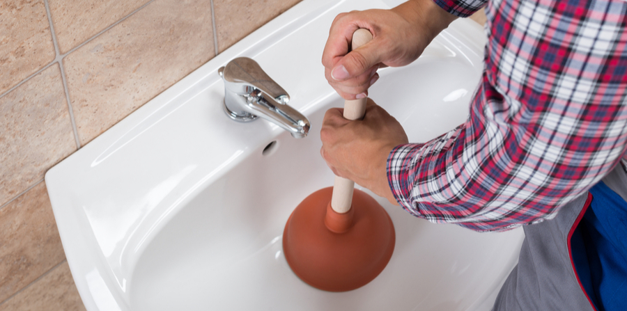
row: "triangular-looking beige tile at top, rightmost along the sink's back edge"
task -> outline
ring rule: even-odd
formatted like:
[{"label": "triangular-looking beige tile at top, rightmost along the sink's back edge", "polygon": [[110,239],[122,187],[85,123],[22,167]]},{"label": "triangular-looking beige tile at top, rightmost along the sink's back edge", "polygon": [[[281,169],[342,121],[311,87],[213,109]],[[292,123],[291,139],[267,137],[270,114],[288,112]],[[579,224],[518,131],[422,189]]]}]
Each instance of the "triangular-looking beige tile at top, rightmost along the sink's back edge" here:
[{"label": "triangular-looking beige tile at top, rightmost along the sink's back edge", "polygon": [[219,52],[235,44],[301,0],[214,0]]}]

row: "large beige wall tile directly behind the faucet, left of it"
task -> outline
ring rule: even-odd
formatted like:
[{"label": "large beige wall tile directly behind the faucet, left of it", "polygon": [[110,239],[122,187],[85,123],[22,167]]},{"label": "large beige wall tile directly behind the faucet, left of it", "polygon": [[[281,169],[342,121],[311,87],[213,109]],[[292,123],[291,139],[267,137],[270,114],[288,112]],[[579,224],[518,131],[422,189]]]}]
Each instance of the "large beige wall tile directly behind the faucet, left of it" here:
[{"label": "large beige wall tile directly behind the faucet, left of it", "polygon": [[156,0],[64,60],[82,144],[215,56],[210,0]]}]

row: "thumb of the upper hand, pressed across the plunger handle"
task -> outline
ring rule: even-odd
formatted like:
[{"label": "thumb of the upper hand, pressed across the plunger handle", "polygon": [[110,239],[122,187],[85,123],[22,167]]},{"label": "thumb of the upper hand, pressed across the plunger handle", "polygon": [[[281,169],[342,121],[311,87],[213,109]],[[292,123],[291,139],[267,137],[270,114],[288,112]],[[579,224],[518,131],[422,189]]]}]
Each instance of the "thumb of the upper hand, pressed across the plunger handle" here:
[{"label": "thumb of the upper hand, pressed across the plunger handle", "polygon": [[373,41],[346,54],[331,71],[331,77],[336,81],[344,81],[358,77],[380,63],[380,51]]}]

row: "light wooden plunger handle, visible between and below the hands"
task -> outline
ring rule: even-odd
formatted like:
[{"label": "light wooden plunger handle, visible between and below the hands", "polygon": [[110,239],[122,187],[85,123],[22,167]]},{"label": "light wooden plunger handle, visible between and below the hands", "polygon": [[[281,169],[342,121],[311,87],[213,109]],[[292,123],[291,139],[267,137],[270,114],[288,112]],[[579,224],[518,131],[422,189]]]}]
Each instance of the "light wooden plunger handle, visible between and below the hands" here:
[{"label": "light wooden plunger handle, visible between and below the hands", "polygon": [[[368,29],[357,29],[353,33],[352,49],[355,50],[372,40],[372,34]],[[344,102],[344,118],[348,120],[359,120],[364,118],[366,112],[366,98],[349,100]],[[353,203],[353,189],[355,182],[342,177],[335,177],[333,183],[333,194],[331,196],[331,208],[339,214],[348,212]]]}]

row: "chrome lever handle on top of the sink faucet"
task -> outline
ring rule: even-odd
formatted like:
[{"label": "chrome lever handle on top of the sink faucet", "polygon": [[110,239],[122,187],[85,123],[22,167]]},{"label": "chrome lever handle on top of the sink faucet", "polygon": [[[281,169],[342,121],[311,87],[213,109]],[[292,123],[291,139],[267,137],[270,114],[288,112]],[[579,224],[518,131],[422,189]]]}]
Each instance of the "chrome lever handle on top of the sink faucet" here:
[{"label": "chrome lever handle on top of the sink faucet", "polygon": [[222,78],[231,83],[245,84],[261,90],[279,104],[287,104],[290,95],[266,74],[261,66],[251,58],[238,57],[220,68]]}]

